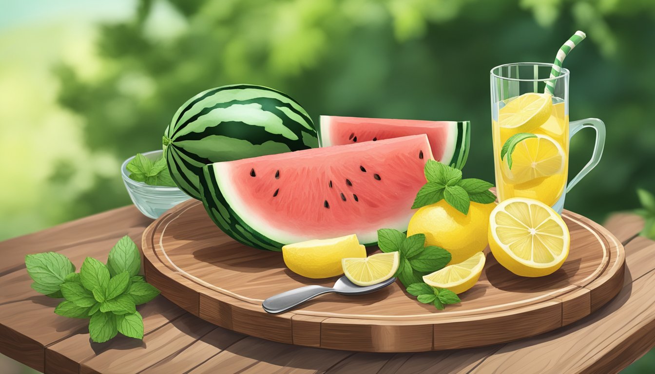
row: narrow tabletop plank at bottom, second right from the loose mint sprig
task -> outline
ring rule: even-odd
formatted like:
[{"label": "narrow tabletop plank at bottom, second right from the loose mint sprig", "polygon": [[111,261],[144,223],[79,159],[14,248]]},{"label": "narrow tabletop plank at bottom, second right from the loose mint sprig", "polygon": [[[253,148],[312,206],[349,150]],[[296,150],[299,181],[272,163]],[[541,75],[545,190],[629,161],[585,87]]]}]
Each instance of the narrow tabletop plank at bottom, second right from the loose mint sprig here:
[{"label": "narrow tabletop plank at bottom, second right from the loose mint sprig", "polygon": [[185,373],[245,338],[246,335],[217,327],[184,350],[164,358],[140,374]]}]

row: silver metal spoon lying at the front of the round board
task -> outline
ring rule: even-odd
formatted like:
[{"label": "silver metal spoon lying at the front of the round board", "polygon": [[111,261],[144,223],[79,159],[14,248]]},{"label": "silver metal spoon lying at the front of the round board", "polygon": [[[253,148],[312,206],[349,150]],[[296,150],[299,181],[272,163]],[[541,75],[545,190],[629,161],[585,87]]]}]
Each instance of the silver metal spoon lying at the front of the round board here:
[{"label": "silver metal spoon lying at the front of the round board", "polygon": [[373,284],[372,286],[357,286],[350,282],[346,276],[342,276],[332,287],[305,286],[296,288],[295,290],[278,293],[277,295],[269,297],[261,303],[261,306],[269,313],[278,314],[286,312],[287,310],[305,303],[305,301],[313,299],[318,295],[323,295],[324,293],[336,292],[341,295],[362,295],[363,293],[380,290],[393,282],[396,282],[395,277],[389,278],[384,282]]}]

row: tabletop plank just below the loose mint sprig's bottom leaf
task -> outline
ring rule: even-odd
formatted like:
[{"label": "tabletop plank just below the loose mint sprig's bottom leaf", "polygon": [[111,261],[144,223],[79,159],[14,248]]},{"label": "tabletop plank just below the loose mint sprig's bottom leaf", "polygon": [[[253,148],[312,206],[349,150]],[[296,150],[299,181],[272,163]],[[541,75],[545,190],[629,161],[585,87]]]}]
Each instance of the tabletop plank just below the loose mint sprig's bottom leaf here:
[{"label": "tabletop plank just below the loose mint sprig's bottom leaf", "polygon": [[143,341],[117,339],[111,349],[84,361],[80,373],[138,373],[185,350],[215,328],[187,313],[144,336]]}]

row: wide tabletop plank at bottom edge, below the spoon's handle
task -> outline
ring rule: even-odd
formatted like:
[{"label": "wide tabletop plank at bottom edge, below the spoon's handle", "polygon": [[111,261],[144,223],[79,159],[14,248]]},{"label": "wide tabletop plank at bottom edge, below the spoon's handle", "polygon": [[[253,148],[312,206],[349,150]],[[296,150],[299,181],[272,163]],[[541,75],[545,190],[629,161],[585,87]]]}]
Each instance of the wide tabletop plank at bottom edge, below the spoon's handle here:
[{"label": "wide tabletop plank at bottom edge, below the spoon's handle", "polygon": [[317,373],[351,354],[247,337],[188,373]]}]

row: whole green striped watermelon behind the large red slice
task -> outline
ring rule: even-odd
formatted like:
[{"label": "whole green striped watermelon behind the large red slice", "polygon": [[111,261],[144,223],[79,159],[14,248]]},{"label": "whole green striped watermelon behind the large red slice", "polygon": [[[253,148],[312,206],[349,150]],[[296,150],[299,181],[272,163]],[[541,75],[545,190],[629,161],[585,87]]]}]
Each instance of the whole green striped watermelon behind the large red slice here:
[{"label": "whole green striped watermelon behind the large red slice", "polygon": [[198,200],[206,164],[318,147],[314,123],[299,103],[254,84],[200,92],[179,107],[162,142],[171,177]]}]

